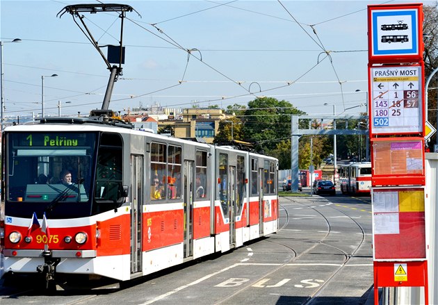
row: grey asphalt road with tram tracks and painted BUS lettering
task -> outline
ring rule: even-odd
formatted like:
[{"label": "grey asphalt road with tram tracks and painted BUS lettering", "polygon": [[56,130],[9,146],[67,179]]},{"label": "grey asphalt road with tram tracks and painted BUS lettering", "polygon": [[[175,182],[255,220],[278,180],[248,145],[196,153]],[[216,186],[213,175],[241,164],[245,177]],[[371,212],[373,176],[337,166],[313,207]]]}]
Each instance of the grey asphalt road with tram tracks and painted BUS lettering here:
[{"label": "grey asphalt road with tram tracks and painted BUS lettering", "polygon": [[122,289],[41,295],[1,286],[1,304],[365,304],[373,285],[371,200],[281,197],[278,233]]}]

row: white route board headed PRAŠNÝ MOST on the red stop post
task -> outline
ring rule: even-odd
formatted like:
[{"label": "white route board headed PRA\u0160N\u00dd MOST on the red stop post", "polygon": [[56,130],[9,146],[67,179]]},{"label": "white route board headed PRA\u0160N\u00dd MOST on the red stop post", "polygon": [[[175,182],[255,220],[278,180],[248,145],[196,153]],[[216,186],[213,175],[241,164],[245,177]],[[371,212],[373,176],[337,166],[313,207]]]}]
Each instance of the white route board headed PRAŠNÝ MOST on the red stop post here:
[{"label": "white route board headed PRA\u0160N\u00dd MOST on the red stop post", "polygon": [[423,133],[420,66],[370,67],[373,134]]}]

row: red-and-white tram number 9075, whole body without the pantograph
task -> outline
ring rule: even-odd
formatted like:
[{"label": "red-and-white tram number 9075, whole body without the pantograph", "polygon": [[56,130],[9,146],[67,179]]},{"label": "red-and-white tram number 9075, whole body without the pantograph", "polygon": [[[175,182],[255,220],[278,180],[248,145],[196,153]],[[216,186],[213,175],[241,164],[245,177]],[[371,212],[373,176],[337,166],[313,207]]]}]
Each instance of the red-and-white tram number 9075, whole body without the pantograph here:
[{"label": "red-and-white tram number 9075, whole body without the pantograph", "polygon": [[270,156],[106,115],[8,126],[1,156],[3,274],[46,288],[79,275],[128,281],[278,230]]}]

